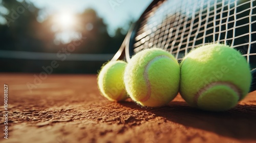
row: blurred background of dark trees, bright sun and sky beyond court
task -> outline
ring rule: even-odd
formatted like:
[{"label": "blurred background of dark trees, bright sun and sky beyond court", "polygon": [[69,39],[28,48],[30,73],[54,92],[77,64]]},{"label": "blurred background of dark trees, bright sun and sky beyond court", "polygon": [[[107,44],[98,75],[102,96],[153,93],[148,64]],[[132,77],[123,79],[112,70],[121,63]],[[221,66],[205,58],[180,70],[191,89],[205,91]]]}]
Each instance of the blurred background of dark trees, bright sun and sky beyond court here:
[{"label": "blurred background of dark trees, bright sun and sky beyond court", "polygon": [[0,0],[0,72],[96,74],[152,0]]}]

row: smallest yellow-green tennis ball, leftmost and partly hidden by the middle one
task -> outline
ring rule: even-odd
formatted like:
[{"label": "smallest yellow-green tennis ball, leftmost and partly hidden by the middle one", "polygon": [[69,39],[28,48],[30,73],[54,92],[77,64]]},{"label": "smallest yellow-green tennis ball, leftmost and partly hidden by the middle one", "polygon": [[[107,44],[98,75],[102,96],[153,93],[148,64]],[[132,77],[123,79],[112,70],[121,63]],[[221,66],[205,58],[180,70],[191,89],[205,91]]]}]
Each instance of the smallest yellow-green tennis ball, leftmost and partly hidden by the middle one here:
[{"label": "smallest yellow-green tennis ball, leftmost and partly hidden by the middle one", "polygon": [[124,61],[111,61],[100,70],[98,87],[102,95],[110,101],[123,101],[127,98],[123,83],[125,66]]}]

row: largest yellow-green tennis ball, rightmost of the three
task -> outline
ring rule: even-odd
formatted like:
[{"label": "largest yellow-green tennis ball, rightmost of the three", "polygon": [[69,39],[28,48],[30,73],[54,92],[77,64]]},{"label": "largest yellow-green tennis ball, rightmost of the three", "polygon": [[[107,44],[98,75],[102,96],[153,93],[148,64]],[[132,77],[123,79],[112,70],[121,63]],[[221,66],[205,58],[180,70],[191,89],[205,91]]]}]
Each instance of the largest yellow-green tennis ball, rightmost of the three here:
[{"label": "largest yellow-green tennis ball, rightmost of the three", "polygon": [[250,67],[237,51],[208,44],[191,51],[181,62],[180,94],[191,106],[228,110],[249,92]]}]

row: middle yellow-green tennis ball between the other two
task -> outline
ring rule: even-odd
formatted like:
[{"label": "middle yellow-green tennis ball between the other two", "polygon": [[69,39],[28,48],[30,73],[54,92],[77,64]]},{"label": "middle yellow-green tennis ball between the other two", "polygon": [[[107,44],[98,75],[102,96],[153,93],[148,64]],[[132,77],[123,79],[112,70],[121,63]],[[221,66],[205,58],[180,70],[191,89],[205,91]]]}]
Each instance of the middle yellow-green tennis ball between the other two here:
[{"label": "middle yellow-green tennis ball between the other two", "polygon": [[180,67],[170,53],[152,48],[137,53],[125,68],[124,84],[129,96],[138,104],[159,107],[178,93]]}]

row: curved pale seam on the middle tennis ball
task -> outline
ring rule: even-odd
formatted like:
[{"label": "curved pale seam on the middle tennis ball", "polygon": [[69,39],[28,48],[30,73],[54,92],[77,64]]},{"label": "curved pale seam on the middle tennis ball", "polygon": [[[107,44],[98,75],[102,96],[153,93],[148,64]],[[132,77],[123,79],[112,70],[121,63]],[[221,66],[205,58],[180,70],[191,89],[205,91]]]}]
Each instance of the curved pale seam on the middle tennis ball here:
[{"label": "curved pale seam on the middle tennis ball", "polygon": [[[151,59],[146,65],[145,65],[145,68],[144,68],[144,72],[143,72],[143,78],[146,82],[146,88],[147,88],[147,93],[146,93],[146,96],[141,99],[141,100],[138,100],[139,102],[145,102],[147,101],[148,99],[150,99],[151,97],[151,82],[148,78],[148,70],[150,69],[150,66],[152,63],[154,63],[155,61],[161,59],[161,58],[168,58],[168,59],[172,59],[166,55],[160,55],[160,56],[157,56],[157,57],[154,57],[153,59]],[[172,59],[173,60],[173,59]]]}]

